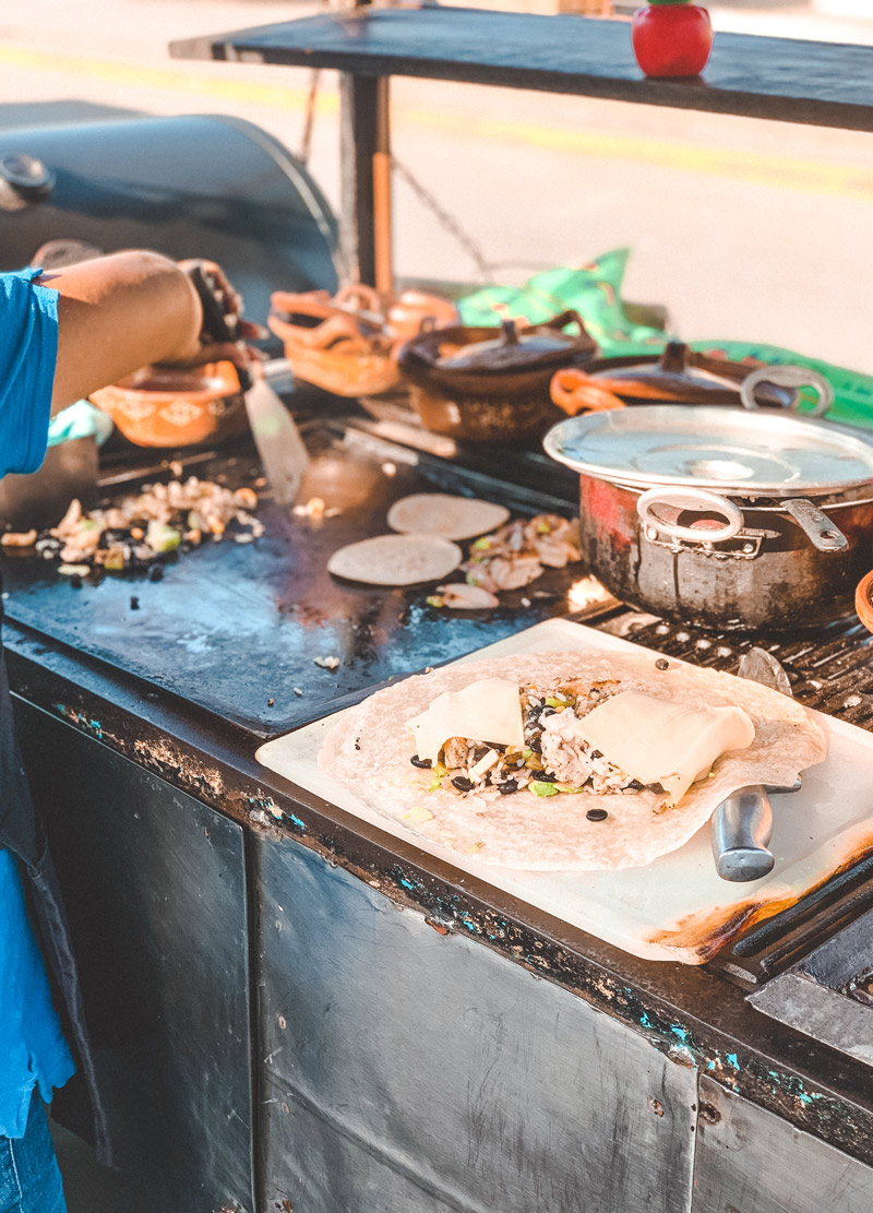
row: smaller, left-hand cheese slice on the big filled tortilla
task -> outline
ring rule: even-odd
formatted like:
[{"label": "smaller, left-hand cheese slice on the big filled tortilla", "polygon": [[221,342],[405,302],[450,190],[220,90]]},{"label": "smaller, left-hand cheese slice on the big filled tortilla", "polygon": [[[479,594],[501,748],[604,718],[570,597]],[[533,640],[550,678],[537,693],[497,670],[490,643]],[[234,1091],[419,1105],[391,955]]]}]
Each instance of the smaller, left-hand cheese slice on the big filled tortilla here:
[{"label": "smaller, left-hand cheese slice on the big filled tortilla", "polygon": [[426,712],[406,724],[415,734],[418,757],[432,762],[436,762],[449,738],[524,747],[518,683],[503,678],[483,678],[463,690],[438,695]]}]

